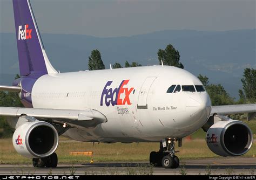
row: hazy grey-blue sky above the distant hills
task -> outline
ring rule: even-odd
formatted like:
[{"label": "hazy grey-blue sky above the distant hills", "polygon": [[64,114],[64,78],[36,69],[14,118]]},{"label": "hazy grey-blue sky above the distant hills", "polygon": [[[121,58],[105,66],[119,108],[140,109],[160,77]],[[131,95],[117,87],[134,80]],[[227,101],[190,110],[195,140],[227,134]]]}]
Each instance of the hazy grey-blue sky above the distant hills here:
[{"label": "hazy grey-blue sky above the distant hills", "polygon": [[[255,0],[31,0],[31,5],[41,33],[119,37],[256,28]],[[0,0],[0,32],[15,32],[11,0]]]}]

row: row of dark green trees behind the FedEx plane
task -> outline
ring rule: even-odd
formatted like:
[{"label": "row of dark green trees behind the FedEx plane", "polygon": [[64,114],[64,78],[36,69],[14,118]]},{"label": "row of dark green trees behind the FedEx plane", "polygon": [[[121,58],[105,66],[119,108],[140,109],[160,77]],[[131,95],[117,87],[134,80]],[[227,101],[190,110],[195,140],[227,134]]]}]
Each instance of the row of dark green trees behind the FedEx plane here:
[{"label": "row of dark green trees behind the FedEx plane", "polygon": [[[176,66],[179,68],[184,68],[184,65],[180,63],[180,54],[171,44],[167,45],[164,50],[159,49],[158,53],[159,65],[163,62],[167,66]],[[131,64],[126,61],[124,67],[138,67],[142,66],[137,62],[132,62]],[[102,56],[99,50],[92,50],[91,56],[88,60],[88,68],[92,70],[104,70],[105,65],[102,60]],[[113,68],[123,68],[119,63],[115,63]],[[15,79],[19,78],[17,74]],[[209,79],[205,75],[198,75],[199,80],[203,83],[209,94],[212,105],[232,105],[240,103],[256,103],[256,70],[253,68],[245,68],[243,77],[241,79],[242,89],[239,90],[239,100],[235,101],[225,90],[225,88],[218,84],[210,84]],[[23,107],[19,96],[17,93],[11,92],[1,92],[0,91],[0,107]],[[0,137],[10,137],[11,129],[4,120],[0,117]]]}]

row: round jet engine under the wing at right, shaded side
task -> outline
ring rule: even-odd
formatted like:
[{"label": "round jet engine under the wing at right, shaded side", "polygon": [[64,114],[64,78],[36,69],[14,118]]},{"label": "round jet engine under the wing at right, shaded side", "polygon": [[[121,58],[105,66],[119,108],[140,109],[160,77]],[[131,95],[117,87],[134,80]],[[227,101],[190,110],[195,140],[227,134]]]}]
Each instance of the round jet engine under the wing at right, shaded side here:
[{"label": "round jet engine under the wing at right, shaded side", "polygon": [[219,121],[207,131],[208,148],[220,156],[240,156],[250,150],[253,143],[251,129],[237,120]]}]

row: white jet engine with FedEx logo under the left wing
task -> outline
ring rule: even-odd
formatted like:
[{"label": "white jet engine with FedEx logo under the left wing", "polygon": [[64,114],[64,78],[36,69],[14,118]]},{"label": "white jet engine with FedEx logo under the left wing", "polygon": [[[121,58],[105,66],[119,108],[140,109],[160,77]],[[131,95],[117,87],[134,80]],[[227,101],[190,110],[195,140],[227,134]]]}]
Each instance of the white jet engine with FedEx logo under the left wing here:
[{"label": "white jet engine with FedEx logo under the left wing", "polygon": [[26,122],[12,136],[12,144],[18,154],[29,158],[50,156],[57,149],[57,130],[48,122]]}]

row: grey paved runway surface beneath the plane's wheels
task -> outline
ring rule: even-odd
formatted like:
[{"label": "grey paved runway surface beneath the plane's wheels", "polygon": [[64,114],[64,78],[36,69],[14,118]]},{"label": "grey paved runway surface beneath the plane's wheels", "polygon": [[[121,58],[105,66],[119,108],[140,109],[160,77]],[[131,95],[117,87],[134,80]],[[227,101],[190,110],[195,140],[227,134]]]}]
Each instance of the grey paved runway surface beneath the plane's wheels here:
[{"label": "grey paved runway surface beneath the plane's wheels", "polygon": [[256,175],[256,157],[181,160],[178,169],[150,167],[148,162],[58,164],[33,168],[30,164],[0,164],[0,175]]}]

